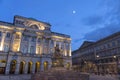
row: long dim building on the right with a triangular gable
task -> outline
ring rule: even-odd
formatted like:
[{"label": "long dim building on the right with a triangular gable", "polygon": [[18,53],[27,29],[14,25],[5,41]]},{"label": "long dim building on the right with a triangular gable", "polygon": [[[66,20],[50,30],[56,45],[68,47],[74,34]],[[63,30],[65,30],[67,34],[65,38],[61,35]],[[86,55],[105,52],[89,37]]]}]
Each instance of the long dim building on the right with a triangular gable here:
[{"label": "long dim building on the right with a triangular gable", "polygon": [[96,42],[85,41],[72,52],[76,70],[96,74],[120,73],[120,32]]}]

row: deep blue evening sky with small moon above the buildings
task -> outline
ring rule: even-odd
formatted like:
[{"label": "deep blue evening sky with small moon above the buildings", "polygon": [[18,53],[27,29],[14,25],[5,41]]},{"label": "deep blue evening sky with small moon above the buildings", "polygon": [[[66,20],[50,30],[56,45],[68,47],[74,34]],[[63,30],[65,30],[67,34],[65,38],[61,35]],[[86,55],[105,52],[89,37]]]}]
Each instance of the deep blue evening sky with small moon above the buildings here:
[{"label": "deep blue evening sky with small moon above the buildings", "polygon": [[71,36],[72,50],[120,31],[120,0],[0,0],[0,21],[13,22],[14,15],[49,22]]}]

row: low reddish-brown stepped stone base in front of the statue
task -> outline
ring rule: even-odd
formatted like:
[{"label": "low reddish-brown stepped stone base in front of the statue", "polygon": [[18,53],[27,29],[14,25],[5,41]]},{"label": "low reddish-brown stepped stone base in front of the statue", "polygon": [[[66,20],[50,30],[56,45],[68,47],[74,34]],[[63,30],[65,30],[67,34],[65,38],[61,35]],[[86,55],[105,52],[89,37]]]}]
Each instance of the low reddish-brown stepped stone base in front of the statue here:
[{"label": "low reddish-brown stepped stone base in front of the statue", "polygon": [[45,71],[34,74],[32,80],[89,80],[89,75],[74,71]]}]

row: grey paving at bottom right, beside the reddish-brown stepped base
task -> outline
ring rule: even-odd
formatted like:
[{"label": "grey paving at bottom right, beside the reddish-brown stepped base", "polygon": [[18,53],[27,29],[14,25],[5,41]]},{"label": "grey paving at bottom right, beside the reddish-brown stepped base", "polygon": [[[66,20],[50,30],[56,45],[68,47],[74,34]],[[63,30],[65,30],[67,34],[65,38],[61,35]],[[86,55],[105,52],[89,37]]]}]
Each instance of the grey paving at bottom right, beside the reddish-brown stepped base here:
[{"label": "grey paving at bottom right, beside the reddish-brown stepped base", "polygon": [[120,80],[118,76],[115,75],[90,75],[90,80]]}]

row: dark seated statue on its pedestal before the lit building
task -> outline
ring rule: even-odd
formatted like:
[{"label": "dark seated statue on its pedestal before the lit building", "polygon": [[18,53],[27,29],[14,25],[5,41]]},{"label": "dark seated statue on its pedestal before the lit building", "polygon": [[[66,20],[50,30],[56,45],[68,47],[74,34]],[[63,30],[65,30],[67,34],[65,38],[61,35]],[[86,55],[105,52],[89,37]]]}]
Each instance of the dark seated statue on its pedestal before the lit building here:
[{"label": "dark seated statue on its pedestal before the lit building", "polygon": [[63,55],[61,54],[62,50],[59,49],[59,46],[56,45],[55,51],[52,57],[52,67],[64,67],[63,65]]}]

